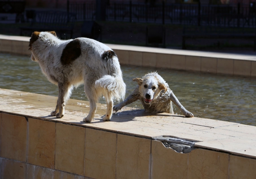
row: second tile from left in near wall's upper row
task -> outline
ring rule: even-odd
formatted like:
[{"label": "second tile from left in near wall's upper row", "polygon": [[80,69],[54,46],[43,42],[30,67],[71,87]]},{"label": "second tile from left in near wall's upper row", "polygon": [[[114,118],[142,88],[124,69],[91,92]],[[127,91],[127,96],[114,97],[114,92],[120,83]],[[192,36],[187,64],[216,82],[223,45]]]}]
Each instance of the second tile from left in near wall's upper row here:
[{"label": "second tile from left in near wall's upper row", "polygon": [[27,162],[54,169],[55,122],[28,118]]}]

